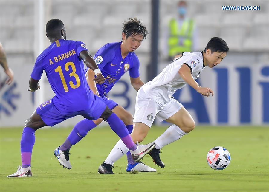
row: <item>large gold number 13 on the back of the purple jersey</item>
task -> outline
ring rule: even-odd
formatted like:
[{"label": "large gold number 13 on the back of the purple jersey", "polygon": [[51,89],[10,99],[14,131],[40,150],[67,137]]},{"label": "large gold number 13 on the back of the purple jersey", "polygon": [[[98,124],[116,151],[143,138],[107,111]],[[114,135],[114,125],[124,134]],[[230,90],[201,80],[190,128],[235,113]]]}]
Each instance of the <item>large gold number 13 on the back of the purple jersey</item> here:
[{"label": "large gold number 13 on the back of the purple jersey", "polygon": [[[74,83],[72,81],[69,81],[69,85],[71,86],[71,88],[76,89],[80,86],[80,78],[76,74],[76,67],[75,67],[75,64],[73,62],[67,62],[65,64],[65,71],[69,71],[69,66],[71,66],[71,68],[72,68],[72,72],[69,75],[70,75],[70,77],[75,77],[76,82],[77,82],[76,85],[74,85]],[[59,65],[54,71],[59,72],[60,78],[62,80],[62,85],[64,86],[64,89],[65,89],[65,92],[68,92],[69,90],[68,90],[65,78],[63,76],[61,66]]]}]

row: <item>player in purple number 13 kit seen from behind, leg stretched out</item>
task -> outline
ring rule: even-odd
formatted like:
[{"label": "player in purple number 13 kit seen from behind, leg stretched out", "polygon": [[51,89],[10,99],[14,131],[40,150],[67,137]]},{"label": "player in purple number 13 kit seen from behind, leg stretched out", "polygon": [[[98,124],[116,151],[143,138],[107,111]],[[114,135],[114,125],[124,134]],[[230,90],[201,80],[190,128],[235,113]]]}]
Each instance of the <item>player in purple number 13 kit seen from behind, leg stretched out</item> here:
[{"label": "player in purple number 13 kit seen from behind, leg stretched out", "polygon": [[[46,32],[51,45],[37,57],[28,90],[34,92],[40,89],[38,81],[45,70],[55,96],[38,106],[31,117],[25,121],[21,139],[22,166],[8,177],[32,176],[31,156],[37,129],[47,125],[54,126],[76,115],[89,120],[105,119],[111,129],[132,150],[133,159],[142,158],[155,144],[135,145],[123,121],[89,89],[84,64],[95,72],[96,83],[103,83],[104,77],[85,44],[81,41],[66,40],[65,27],[59,19],[48,21]],[[61,151],[57,148],[56,155],[66,157],[68,150]]]}]

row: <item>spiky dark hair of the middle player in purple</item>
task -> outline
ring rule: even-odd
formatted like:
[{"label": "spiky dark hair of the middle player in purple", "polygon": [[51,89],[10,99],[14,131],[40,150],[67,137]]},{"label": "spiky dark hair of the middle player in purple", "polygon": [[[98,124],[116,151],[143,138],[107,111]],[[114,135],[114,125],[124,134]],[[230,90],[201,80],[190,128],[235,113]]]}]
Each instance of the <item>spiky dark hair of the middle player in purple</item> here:
[{"label": "spiky dark hair of the middle player in purple", "polygon": [[149,34],[146,26],[137,18],[128,18],[127,21],[124,21],[122,32],[126,35],[126,39],[133,35],[143,35],[144,39]]}]

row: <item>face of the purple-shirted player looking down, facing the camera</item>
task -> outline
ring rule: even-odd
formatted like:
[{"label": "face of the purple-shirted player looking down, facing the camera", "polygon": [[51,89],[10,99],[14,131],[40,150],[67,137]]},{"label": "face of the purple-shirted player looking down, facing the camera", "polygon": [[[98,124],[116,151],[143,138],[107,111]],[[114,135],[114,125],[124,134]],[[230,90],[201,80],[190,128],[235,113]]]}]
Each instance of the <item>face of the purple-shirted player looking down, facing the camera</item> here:
[{"label": "face of the purple-shirted player looking down, facing the camera", "polygon": [[144,36],[139,34],[129,36],[126,39],[126,35],[124,33],[122,34],[122,39],[124,40],[124,46],[129,52],[134,52],[141,45],[143,38]]}]

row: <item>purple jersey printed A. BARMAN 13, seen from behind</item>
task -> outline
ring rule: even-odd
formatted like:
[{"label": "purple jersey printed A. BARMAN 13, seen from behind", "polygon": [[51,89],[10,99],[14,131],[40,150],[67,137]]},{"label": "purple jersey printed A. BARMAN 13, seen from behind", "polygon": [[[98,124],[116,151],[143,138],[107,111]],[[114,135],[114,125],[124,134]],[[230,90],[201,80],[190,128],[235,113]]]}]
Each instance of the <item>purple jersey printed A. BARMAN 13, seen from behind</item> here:
[{"label": "purple jersey printed A. BARMAN 13, seen from behind", "polygon": [[65,112],[88,109],[93,102],[93,93],[87,84],[84,63],[79,57],[88,50],[81,41],[57,40],[36,59],[31,77],[41,79],[45,70],[55,96],[52,103]]}]

